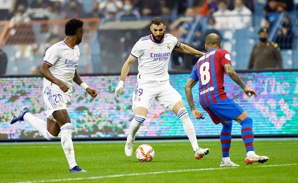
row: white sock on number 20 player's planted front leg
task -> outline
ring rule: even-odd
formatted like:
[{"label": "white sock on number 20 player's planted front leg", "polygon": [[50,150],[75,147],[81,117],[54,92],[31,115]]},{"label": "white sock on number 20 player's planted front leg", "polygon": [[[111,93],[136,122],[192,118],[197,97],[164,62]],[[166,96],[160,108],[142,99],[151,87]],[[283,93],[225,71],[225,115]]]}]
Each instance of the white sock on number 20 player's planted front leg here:
[{"label": "white sock on number 20 player's planted front leg", "polygon": [[66,123],[60,127],[61,129],[61,145],[66,155],[69,169],[77,165],[74,155],[74,148],[71,139],[72,126],[71,123]]}]

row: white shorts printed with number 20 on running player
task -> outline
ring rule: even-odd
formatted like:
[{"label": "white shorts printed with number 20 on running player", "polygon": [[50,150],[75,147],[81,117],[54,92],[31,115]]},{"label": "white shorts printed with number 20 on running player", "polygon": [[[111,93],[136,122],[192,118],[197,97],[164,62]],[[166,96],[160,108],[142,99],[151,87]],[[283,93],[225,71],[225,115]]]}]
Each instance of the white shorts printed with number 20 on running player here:
[{"label": "white shorts printed with number 20 on running player", "polygon": [[47,86],[43,89],[43,97],[47,105],[47,118],[50,118],[54,121],[56,120],[52,115],[53,112],[62,109],[67,110],[67,103],[70,102],[69,95],[66,95],[62,90],[51,86]]}]

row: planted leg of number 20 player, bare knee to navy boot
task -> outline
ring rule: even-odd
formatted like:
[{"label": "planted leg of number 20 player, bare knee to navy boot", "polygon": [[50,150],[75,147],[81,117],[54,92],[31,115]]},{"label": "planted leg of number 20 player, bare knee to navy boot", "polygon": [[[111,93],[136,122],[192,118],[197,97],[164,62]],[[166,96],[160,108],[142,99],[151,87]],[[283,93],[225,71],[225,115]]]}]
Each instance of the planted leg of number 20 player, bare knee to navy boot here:
[{"label": "planted leg of number 20 player, bare knee to navy boot", "polygon": [[61,130],[61,145],[69,164],[69,172],[86,172],[78,167],[75,160],[75,152],[72,142],[72,125],[66,109],[53,112],[55,120],[58,122]]}]

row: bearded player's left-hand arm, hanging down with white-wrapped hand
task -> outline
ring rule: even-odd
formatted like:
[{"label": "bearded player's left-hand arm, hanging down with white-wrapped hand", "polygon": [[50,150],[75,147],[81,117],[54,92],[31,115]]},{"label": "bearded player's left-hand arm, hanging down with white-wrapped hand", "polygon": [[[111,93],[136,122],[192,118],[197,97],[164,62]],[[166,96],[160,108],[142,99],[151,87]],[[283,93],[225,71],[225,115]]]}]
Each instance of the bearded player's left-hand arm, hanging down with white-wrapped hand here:
[{"label": "bearded player's left-hand arm, hanging down with white-wrapped hand", "polygon": [[[129,69],[130,69],[130,66],[131,64],[136,60],[135,57],[133,57],[132,55],[129,55],[126,62],[124,63],[123,67],[122,67],[122,70],[121,70],[121,75],[120,75],[120,81],[119,81],[119,84],[118,86],[116,87],[115,89],[115,95],[117,97],[119,97],[119,93],[122,94],[122,90],[124,88],[124,81],[125,81],[125,78],[129,72]],[[118,93],[119,92],[119,93]]]}]

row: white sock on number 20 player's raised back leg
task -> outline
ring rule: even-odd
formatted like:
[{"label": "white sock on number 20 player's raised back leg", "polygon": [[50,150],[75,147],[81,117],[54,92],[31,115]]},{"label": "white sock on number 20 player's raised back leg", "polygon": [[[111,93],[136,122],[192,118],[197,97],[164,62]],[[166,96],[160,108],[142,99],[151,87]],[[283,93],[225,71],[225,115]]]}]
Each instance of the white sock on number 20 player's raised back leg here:
[{"label": "white sock on number 20 player's raised back leg", "polygon": [[28,121],[31,123],[31,125],[36,128],[46,139],[48,140],[53,140],[57,138],[56,136],[52,135],[48,130],[47,130],[47,122],[35,117],[31,113],[27,112],[24,115],[24,120]]}]

